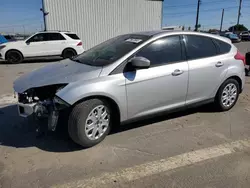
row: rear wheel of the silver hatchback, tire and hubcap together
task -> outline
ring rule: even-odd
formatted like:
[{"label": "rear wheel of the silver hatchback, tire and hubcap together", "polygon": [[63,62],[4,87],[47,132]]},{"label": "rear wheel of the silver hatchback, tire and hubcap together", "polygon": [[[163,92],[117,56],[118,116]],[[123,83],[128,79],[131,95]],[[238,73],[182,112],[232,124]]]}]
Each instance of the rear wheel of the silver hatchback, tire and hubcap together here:
[{"label": "rear wheel of the silver hatchback, tire and hubcap together", "polygon": [[[231,89],[230,89],[231,88]],[[236,90],[235,90],[236,89]],[[228,92],[231,93],[228,94]],[[226,80],[219,88],[215,104],[219,111],[228,111],[236,104],[240,93],[239,82],[235,79]]]}]

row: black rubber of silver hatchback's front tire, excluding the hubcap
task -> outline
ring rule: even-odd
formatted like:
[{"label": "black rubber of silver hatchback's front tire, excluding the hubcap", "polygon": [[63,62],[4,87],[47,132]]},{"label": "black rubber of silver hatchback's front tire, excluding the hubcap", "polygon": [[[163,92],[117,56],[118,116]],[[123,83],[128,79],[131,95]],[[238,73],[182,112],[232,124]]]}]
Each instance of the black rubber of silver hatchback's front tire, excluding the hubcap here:
[{"label": "black rubber of silver hatchback's front tire, excluding the hubcap", "polygon": [[[99,139],[90,140],[85,133],[85,122],[89,113],[99,105],[104,105],[106,107],[107,113],[109,114],[110,118],[110,124],[106,132]],[[74,113],[74,115],[72,115],[72,113]],[[100,143],[102,140],[104,140],[104,138],[107,136],[107,134],[111,129],[111,124],[112,124],[111,108],[110,105],[105,100],[91,99],[88,101],[84,101],[76,105],[72,110],[72,113],[70,114],[68,122],[68,129],[71,129],[70,136],[72,137],[72,131],[75,132],[73,133],[74,138],[72,139],[76,143],[83,146],[84,148],[92,147]]]}]

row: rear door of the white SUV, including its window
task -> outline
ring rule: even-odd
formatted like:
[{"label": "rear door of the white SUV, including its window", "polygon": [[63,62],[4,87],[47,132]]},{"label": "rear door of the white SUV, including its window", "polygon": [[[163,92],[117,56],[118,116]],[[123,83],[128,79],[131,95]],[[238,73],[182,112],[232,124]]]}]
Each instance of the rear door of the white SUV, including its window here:
[{"label": "rear door of the white SUV, including its window", "polygon": [[46,48],[48,49],[47,56],[61,55],[66,48],[66,39],[60,33],[47,33],[48,41]]}]

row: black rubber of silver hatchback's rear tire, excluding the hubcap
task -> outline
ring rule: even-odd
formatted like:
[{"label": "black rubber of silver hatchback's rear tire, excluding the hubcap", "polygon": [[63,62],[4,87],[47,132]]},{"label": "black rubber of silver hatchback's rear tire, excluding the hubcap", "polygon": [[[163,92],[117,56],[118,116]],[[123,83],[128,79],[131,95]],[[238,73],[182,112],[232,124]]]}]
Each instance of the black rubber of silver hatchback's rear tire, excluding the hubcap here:
[{"label": "black rubber of silver hatchback's rear tire, excluding the hubcap", "polygon": [[[225,89],[225,87],[228,85],[228,84],[235,84],[235,86],[237,87],[237,96],[236,96],[236,100],[234,101],[234,103],[230,106],[230,107],[226,107],[222,104],[222,92],[223,90]],[[228,79],[226,80],[220,87],[219,91],[218,91],[218,94],[217,94],[217,104],[218,104],[218,107],[220,108],[221,111],[228,111],[230,110],[231,108],[233,108],[235,106],[235,104],[237,103],[238,101],[238,98],[239,98],[239,93],[240,93],[240,85],[238,83],[237,80],[235,79]]]}]

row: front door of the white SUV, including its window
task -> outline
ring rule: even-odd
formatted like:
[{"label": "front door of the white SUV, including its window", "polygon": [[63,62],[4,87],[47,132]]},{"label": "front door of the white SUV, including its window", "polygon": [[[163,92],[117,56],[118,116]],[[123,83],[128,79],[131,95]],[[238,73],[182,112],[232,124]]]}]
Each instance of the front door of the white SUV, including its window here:
[{"label": "front door of the white SUV, including its window", "polygon": [[45,33],[38,33],[29,38],[23,48],[24,57],[45,56],[48,51],[45,46],[47,39],[48,38]]}]

